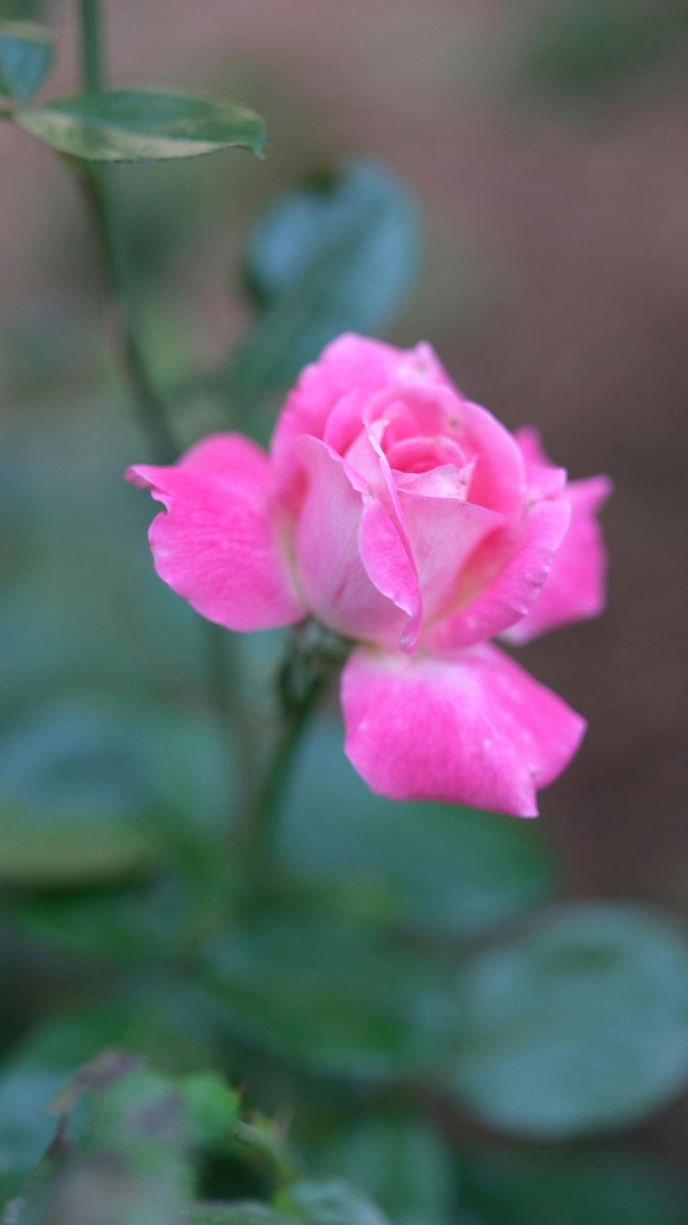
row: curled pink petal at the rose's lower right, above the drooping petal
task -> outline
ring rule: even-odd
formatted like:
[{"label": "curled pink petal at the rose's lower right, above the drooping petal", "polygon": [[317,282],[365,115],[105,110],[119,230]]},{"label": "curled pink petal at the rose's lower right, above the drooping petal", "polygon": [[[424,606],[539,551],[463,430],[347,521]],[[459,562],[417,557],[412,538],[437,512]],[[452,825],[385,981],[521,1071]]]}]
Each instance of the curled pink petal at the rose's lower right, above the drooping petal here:
[{"label": "curled pink petal at the rose's lower right, above the drooping petal", "polygon": [[[464,575],[463,590],[459,588],[463,606],[428,631],[427,644],[446,650],[471,647],[524,617],[550,573],[569,518],[564,499],[537,502],[529,508],[515,544],[502,533],[488,539]],[[479,593],[473,600],[471,590]]]}]

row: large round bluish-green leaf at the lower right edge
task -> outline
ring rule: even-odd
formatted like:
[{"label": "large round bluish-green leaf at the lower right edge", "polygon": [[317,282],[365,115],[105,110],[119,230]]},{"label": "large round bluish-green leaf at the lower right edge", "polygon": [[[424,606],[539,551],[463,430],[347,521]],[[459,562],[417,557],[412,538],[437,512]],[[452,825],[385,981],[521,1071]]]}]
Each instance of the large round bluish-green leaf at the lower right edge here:
[{"label": "large round bluish-green leaf at the lower right edge", "polygon": [[559,1139],[637,1123],[688,1078],[688,943],[640,907],[577,905],[479,954],[451,1088],[497,1128]]}]

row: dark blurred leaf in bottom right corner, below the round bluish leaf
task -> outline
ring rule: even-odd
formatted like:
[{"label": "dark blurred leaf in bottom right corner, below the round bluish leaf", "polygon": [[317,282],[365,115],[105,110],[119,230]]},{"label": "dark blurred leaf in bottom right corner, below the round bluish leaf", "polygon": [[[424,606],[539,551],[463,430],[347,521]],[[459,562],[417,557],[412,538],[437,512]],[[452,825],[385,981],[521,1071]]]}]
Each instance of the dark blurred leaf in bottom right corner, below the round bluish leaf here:
[{"label": "dark blurred leaf in bottom right corner, below the round bluish leaf", "polygon": [[464,1154],[462,1203],[484,1225],[682,1225],[684,1188],[638,1152]]}]

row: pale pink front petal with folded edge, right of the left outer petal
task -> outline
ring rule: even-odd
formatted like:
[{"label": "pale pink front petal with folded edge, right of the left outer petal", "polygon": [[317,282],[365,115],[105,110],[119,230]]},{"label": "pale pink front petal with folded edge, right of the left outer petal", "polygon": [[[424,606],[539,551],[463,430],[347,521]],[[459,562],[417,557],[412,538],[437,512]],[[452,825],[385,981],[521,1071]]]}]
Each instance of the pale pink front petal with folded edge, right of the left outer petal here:
[{"label": "pale pink front petal with folded edge, right of the left outer petal", "polygon": [[308,484],[296,555],[310,608],[346,637],[406,644],[420,589],[381,497],[324,442],[304,437],[300,450]]}]

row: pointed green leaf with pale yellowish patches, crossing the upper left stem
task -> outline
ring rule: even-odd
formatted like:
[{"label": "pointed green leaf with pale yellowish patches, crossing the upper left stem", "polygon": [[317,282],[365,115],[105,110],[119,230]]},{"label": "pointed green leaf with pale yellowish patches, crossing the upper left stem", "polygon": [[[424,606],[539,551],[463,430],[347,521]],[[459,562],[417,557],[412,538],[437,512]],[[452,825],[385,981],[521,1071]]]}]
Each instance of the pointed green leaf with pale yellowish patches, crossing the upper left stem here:
[{"label": "pointed green leaf with pale yellowish patches, crossing the upper left stem", "polygon": [[160,89],[109,89],[22,108],[17,123],[91,162],[165,162],[241,146],[262,157],[263,120],[240,103]]}]

